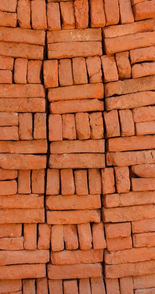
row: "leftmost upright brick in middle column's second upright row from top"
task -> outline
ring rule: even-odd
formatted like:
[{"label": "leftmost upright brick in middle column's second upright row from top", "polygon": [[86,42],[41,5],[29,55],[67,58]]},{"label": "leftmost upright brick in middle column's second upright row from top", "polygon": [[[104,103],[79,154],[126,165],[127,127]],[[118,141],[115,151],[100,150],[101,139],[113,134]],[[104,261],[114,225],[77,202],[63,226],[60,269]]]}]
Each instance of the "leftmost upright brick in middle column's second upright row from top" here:
[{"label": "leftmost upright brick in middle column's second upright row from top", "polygon": [[44,86],[58,87],[58,60],[44,61]]}]

